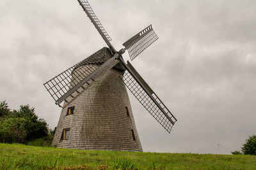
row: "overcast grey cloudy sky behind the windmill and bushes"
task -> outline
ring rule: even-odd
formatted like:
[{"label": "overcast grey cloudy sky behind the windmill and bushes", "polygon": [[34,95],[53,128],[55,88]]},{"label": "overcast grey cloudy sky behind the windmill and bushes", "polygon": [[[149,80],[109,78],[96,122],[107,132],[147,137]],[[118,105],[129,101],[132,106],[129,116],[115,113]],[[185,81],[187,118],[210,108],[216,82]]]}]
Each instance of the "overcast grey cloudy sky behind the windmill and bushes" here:
[{"label": "overcast grey cloudy sky behind the windmill and bushes", "polygon": [[[117,50],[150,24],[159,36],[132,64],[178,121],[168,134],[130,94],[145,152],[230,154],[256,134],[256,1],[90,4]],[[106,44],[76,0],[1,1],[0,16],[0,101],[56,127],[43,83]]]}]

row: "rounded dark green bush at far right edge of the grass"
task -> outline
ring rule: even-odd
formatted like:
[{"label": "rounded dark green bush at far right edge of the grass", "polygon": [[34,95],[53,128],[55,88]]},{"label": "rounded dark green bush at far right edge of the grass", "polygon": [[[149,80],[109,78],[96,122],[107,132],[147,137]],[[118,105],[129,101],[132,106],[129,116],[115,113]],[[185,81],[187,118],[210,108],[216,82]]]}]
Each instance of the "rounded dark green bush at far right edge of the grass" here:
[{"label": "rounded dark green bush at far right edge of the grass", "polygon": [[256,135],[249,136],[242,147],[244,155],[256,155]]}]

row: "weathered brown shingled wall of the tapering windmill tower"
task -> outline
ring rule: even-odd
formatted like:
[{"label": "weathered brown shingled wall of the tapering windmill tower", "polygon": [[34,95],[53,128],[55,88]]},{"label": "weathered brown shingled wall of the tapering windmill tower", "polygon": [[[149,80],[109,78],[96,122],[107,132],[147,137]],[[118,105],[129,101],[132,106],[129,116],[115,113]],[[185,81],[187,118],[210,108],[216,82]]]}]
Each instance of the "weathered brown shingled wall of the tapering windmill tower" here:
[{"label": "weathered brown shingled wall of the tapering windmill tower", "polygon": [[[120,68],[115,66],[107,71],[63,108],[52,145],[81,150],[142,152],[127,90],[119,77],[124,70]],[[67,115],[70,107],[75,107],[73,115]],[[67,140],[61,139],[63,129],[70,129]]]}]

